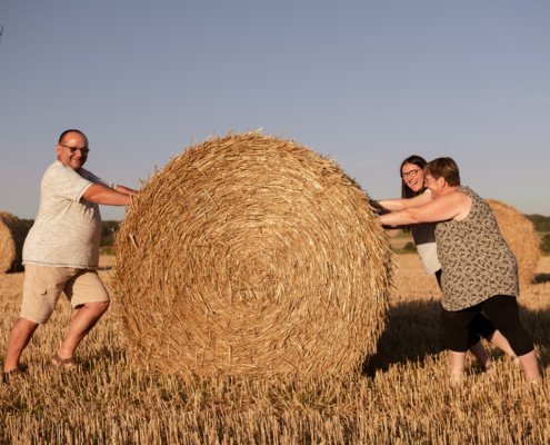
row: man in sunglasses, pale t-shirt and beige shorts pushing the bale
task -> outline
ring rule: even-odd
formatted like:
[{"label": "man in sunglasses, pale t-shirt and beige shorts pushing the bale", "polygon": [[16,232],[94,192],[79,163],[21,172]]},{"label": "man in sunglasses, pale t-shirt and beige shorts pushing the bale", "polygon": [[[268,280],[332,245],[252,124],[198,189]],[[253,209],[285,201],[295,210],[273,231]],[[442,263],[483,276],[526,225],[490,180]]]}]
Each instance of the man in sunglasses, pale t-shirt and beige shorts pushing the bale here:
[{"label": "man in sunglasses, pale t-shirt and beige shorts pushing the bale", "polygon": [[109,307],[109,294],[97,273],[101,239],[98,205],[129,206],[136,195],[82,168],[90,151],[83,132],[64,131],[56,150],[58,160],[42,178],[40,208],[23,246],[23,299],[8,343],[4,380],[24,377],[19,358],[37,327],[50,319],[62,291],[78,312],[51,357],[51,366],[77,368],[74,349]]}]

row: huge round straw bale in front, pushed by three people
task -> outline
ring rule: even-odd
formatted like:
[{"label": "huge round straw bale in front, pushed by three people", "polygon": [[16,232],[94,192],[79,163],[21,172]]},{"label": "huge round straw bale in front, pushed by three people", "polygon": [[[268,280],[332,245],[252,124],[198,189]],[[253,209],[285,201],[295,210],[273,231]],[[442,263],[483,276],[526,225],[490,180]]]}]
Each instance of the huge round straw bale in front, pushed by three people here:
[{"label": "huge round straw bale in front, pushed by three people", "polygon": [[119,326],[149,369],[348,373],[384,328],[389,238],[360,187],[293,141],[187,149],[143,184],[114,248]]}]

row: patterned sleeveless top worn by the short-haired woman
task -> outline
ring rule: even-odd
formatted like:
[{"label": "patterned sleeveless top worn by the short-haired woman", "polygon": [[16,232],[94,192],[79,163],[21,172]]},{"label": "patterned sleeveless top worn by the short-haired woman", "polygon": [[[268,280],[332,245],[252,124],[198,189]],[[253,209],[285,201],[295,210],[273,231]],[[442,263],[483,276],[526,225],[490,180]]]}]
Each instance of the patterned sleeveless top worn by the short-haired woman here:
[{"label": "patterned sleeveless top worn by the short-haired woman", "polygon": [[472,207],[461,221],[436,228],[443,308],[466,309],[496,295],[519,297],[518,263],[489,204],[468,187],[457,190],[472,199]]}]

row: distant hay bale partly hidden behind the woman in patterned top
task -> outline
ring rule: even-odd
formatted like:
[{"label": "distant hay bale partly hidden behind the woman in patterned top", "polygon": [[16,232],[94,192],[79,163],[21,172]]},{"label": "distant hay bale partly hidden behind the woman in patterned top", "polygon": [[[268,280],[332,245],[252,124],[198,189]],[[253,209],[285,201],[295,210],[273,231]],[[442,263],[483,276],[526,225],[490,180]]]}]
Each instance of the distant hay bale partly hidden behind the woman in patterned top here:
[{"label": "distant hay bale partly hidden behind the woman in patterned top", "polygon": [[533,224],[520,211],[496,199],[486,199],[497,217],[500,233],[518,261],[520,287],[532,283],[540,259],[539,237]]}]

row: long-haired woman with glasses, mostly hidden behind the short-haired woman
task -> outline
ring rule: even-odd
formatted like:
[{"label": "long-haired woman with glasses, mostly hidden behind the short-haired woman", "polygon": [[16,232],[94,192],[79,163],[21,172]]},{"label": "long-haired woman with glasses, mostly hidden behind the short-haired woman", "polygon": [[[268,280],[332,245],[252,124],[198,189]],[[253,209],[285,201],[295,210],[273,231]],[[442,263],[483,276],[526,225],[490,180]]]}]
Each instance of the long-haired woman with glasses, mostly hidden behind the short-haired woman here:
[{"label": "long-haired woman with glasses, mostly hidden behind the short-haired woman", "polygon": [[[401,176],[401,199],[382,199],[371,201],[371,206],[381,214],[399,211],[409,207],[423,206],[431,201],[431,194],[424,187],[423,168],[428,162],[421,156],[410,156],[401,162],[399,174]],[[403,228],[408,231],[409,228]],[[426,275],[436,274],[439,287],[441,287],[441,265],[438,260],[436,245],[436,225],[418,225],[410,228],[417,250],[422,261]],[[470,352],[478,358],[481,368],[490,373],[492,368],[491,358],[481,342],[480,335],[494,346],[501,348],[517,366],[519,366],[516,354],[504,336],[496,329],[493,324],[483,315],[478,315],[468,327],[470,339]]]}]

